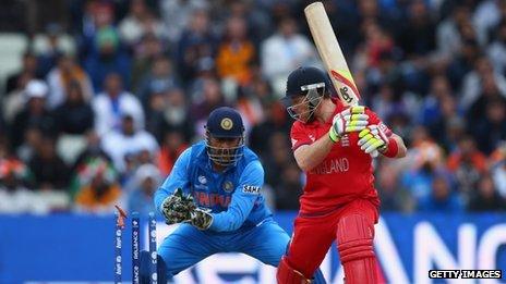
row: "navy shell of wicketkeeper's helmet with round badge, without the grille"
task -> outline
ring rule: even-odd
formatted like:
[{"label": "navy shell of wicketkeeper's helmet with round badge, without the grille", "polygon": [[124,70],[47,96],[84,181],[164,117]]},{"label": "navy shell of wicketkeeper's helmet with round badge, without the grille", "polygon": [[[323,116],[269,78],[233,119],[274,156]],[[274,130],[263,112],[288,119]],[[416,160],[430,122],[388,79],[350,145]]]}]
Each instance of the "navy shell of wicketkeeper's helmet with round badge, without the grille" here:
[{"label": "navy shell of wicketkeeper's helmet with round badge, without the grille", "polygon": [[229,107],[221,107],[210,112],[206,129],[213,137],[236,138],[242,137],[244,124],[239,112]]}]

